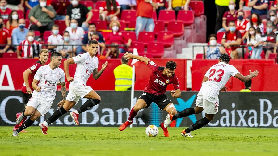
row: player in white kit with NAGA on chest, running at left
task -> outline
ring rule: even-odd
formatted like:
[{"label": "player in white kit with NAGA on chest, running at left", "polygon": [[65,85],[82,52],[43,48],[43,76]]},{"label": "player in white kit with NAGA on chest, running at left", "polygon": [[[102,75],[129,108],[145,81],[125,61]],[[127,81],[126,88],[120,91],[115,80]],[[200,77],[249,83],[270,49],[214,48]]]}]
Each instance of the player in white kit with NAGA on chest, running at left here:
[{"label": "player in white kit with NAGA on chest, running at left", "polygon": [[[20,131],[31,126],[37,118],[44,116],[48,112],[55,99],[58,82],[61,83],[62,96],[65,100],[65,73],[59,68],[62,63],[62,55],[59,52],[53,52],[50,58],[50,64],[41,66],[37,70],[32,82],[32,88],[34,88],[35,91],[33,91],[26,109],[23,110],[22,114],[15,122],[19,124],[24,117],[30,116],[30,118],[13,132],[13,136],[18,136]],[[40,81],[40,83],[37,85],[38,81]],[[61,104],[61,102],[59,104]]]}]

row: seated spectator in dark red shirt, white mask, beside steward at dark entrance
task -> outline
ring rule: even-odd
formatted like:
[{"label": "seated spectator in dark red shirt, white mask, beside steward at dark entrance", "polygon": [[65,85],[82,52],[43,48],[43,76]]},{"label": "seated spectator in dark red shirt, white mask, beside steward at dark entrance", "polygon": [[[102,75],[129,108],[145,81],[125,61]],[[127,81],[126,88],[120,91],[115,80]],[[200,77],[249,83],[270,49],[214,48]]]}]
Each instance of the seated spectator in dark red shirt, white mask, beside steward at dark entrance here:
[{"label": "seated spectator in dark red shirt, white mask, beside steward at dark entrance", "polygon": [[219,29],[217,32],[225,32],[229,31],[228,23],[230,21],[236,21],[237,20],[237,15],[238,11],[235,10],[235,2],[231,0],[229,2],[229,11],[225,12],[222,18],[222,28]]}]

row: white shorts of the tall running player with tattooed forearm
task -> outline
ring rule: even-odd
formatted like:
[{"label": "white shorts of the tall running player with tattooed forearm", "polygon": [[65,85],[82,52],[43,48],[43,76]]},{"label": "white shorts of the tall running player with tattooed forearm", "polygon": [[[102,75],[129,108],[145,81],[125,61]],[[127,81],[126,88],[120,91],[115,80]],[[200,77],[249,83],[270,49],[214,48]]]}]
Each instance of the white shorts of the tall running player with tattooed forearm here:
[{"label": "white shorts of the tall running player with tattooed forearm", "polygon": [[90,91],[92,91],[92,87],[85,86],[83,84],[73,84],[70,83],[69,93],[66,97],[68,101],[75,101],[76,104],[78,103],[80,98],[86,96]]}]

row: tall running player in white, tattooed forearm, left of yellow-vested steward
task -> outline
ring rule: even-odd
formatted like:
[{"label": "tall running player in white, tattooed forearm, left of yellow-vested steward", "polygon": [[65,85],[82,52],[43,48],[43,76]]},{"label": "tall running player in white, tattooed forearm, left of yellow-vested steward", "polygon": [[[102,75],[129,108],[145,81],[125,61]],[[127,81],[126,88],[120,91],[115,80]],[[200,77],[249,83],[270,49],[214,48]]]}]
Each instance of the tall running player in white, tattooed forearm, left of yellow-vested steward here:
[{"label": "tall running player in white, tattooed forearm, left of yellow-vested steward", "polygon": [[[56,121],[63,114],[69,112],[70,109],[78,103],[80,98],[87,98],[89,100],[74,112],[70,112],[70,116],[72,116],[75,125],[79,125],[78,117],[80,113],[100,103],[100,96],[90,86],[86,85],[91,74],[93,74],[95,80],[98,79],[108,65],[106,61],[102,64],[101,70],[98,71],[99,60],[95,57],[97,49],[98,42],[90,40],[87,53],[79,54],[64,62],[65,75],[68,82],[70,82],[70,92],[66,97],[66,101],[61,103],[61,108],[40,124],[43,134],[46,134],[49,124]],[[73,78],[70,77],[69,66],[75,63],[77,63],[77,67]]]}]

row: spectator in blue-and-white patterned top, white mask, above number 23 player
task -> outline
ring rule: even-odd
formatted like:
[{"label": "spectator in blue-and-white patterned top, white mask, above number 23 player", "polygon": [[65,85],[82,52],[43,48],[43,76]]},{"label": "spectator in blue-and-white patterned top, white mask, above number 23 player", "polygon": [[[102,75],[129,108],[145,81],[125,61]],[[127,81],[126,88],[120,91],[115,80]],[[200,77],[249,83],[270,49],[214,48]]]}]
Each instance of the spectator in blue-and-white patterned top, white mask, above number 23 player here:
[{"label": "spectator in blue-and-white patterned top, white mask, above number 23 player", "polygon": [[217,43],[217,37],[215,34],[210,34],[208,41],[208,47],[205,49],[206,59],[219,59],[221,54],[227,53],[225,48],[223,48],[221,44]]}]

